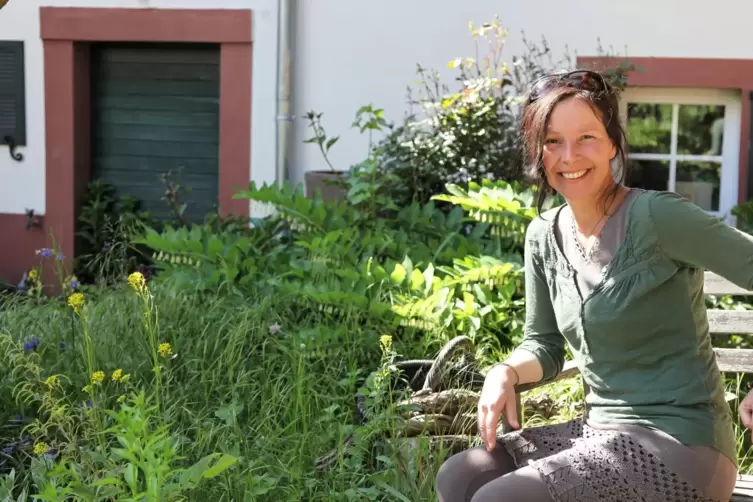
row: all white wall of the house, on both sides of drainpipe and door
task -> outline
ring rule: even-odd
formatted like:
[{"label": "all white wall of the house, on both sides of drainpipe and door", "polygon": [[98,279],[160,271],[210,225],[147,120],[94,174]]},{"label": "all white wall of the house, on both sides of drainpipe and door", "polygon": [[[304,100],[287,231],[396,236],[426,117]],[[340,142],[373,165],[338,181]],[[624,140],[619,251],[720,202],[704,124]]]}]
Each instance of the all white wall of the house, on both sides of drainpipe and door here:
[{"label": "all white wall of the house, on both sides of drainpipe and door", "polygon": [[[499,14],[510,29],[506,59],[522,49],[520,32],[545,36],[555,55],[595,55],[597,39],[631,56],[753,58],[749,43],[753,2],[719,0],[298,0],[294,46],[290,176],[326,168],[303,115],[324,112],[328,133],[342,140],[333,162],[345,169],[363,159],[366,138],[350,128],[356,110],[373,103],[387,118],[407,110],[406,86],[417,63],[443,69],[450,59],[470,55],[468,21]],[[22,163],[0,147],[0,213],[45,211],[45,127],[40,6],[252,9],[253,101],[251,178],[273,181],[276,162],[276,0],[10,0],[0,11],[0,39],[25,41],[27,143]],[[699,72],[703,68],[698,69]]]}]

